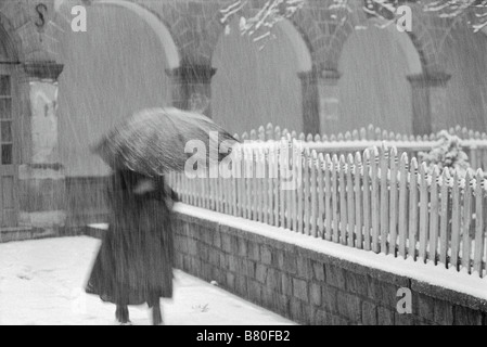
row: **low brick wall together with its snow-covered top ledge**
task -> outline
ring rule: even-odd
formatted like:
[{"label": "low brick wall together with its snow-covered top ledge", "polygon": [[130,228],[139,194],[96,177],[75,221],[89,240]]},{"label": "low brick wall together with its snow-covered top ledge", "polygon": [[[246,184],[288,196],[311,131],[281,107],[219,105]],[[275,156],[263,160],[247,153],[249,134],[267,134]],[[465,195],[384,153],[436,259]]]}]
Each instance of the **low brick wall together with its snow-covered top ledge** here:
[{"label": "low brick wall together with its snow-covered top ledge", "polygon": [[[297,322],[487,324],[487,279],[184,204],[175,210],[179,268]],[[401,288],[410,314],[397,311]]]}]

